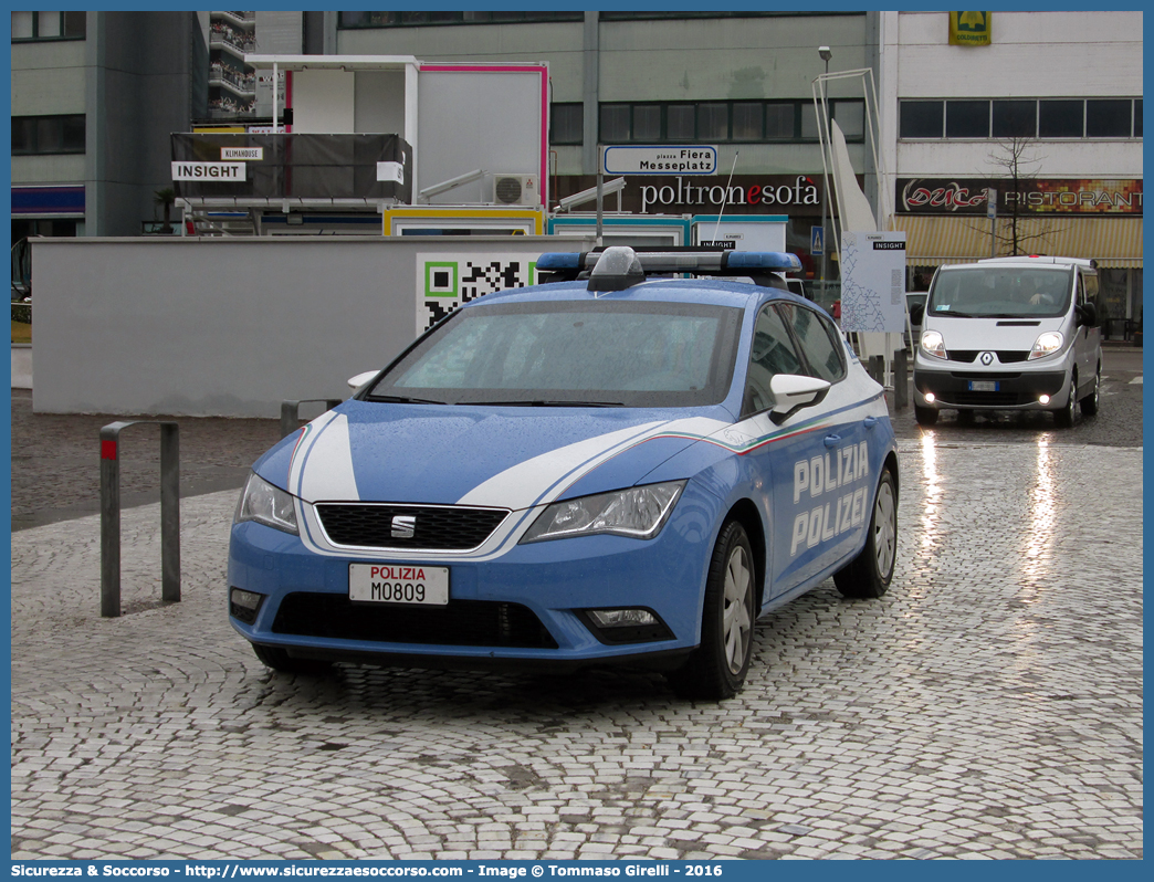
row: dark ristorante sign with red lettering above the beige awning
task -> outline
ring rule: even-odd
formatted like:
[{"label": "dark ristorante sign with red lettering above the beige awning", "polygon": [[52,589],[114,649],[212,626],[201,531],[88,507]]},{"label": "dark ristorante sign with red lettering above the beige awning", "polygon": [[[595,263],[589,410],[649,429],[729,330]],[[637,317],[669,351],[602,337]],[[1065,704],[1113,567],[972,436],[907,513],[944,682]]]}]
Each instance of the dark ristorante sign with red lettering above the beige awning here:
[{"label": "dark ristorante sign with red lettering above the beige awning", "polygon": [[898,178],[898,211],[906,215],[984,215],[987,188],[998,216],[1141,215],[1142,182],[1130,178]]}]

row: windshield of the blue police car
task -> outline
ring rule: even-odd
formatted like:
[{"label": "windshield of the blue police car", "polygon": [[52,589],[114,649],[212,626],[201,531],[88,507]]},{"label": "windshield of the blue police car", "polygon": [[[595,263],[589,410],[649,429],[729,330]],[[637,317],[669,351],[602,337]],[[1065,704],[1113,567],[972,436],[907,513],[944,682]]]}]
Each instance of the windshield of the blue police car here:
[{"label": "windshield of the blue police car", "polygon": [[447,404],[669,408],[725,399],[741,309],[609,300],[481,304],[365,396]]}]

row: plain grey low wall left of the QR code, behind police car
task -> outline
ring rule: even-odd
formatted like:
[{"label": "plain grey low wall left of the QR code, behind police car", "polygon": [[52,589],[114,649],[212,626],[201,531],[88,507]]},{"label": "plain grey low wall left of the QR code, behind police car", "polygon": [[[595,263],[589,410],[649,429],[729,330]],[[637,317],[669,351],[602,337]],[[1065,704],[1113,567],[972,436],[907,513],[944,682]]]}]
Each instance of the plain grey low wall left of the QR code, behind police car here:
[{"label": "plain grey low wall left of the QR code, behind police car", "polygon": [[[587,251],[555,237],[44,239],[38,412],[277,417],[343,398],[417,326],[417,254]],[[14,360],[15,365],[15,360]]]}]

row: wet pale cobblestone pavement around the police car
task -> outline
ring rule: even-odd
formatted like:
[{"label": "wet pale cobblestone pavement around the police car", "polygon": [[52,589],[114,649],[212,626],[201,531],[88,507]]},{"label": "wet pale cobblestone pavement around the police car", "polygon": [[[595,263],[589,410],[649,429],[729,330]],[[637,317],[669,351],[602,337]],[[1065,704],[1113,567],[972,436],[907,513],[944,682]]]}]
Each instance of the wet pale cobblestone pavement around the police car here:
[{"label": "wet pale cobblestone pavement around the police car", "polygon": [[265,670],[225,616],[234,492],[21,530],[29,858],[1140,858],[1141,449],[904,443],[899,562],[763,619],[744,692],[653,674]]}]

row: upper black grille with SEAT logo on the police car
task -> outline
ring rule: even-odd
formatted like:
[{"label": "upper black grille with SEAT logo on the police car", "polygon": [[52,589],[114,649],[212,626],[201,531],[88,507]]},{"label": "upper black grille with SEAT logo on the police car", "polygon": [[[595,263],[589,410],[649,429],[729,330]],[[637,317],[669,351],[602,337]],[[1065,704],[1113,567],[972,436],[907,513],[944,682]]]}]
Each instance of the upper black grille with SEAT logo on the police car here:
[{"label": "upper black grille with SEAT logo on the police car", "polygon": [[[463,506],[395,506],[372,502],[322,502],[316,516],[336,545],[409,551],[469,551],[501,525],[503,508]],[[412,536],[398,532],[395,517],[415,518]],[[406,532],[400,530],[399,532]]]}]

